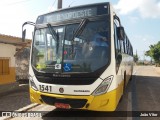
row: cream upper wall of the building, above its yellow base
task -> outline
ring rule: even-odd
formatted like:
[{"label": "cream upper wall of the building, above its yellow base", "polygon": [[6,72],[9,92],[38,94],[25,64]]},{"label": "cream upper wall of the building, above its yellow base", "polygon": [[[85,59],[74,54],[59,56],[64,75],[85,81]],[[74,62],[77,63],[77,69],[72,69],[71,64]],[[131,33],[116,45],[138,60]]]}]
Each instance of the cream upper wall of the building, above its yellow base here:
[{"label": "cream upper wall of the building, above its yellow base", "polygon": [[0,57],[10,58],[10,67],[15,67],[16,46],[0,43]]}]

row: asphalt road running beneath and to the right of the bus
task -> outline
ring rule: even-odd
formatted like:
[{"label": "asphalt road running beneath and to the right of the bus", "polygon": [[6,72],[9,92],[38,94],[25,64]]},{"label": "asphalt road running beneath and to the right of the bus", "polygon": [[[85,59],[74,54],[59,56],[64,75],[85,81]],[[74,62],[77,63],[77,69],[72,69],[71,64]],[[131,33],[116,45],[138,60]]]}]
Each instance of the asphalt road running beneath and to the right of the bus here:
[{"label": "asphalt road running beneath and to the right of the bus", "polygon": [[[129,82],[115,113],[66,112],[66,110],[55,109],[54,106],[48,105],[39,105],[29,111],[43,111],[42,117],[34,118],[36,120],[160,120],[160,117],[130,117],[132,112],[127,112],[140,111],[142,115],[148,114],[149,116],[151,113],[156,115],[159,111],[158,115],[160,116],[160,68],[154,66],[135,67],[133,79]],[[114,114],[119,117],[111,117]]]}]

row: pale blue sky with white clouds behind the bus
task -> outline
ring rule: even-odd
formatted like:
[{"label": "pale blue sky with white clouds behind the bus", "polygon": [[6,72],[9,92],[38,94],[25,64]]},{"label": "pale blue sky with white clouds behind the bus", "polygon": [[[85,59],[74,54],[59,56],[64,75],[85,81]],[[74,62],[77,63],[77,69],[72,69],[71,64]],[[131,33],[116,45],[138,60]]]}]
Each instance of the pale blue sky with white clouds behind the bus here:
[{"label": "pale blue sky with white clouds behind the bus", "polygon": [[[0,0],[0,34],[21,37],[22,24],[57,9],[58,0]],[[144,52],[160,41],[160,0],[63,0],[63,8],[111,2],[141,60]],[[31,38],[33,27],[28,26]]]}]

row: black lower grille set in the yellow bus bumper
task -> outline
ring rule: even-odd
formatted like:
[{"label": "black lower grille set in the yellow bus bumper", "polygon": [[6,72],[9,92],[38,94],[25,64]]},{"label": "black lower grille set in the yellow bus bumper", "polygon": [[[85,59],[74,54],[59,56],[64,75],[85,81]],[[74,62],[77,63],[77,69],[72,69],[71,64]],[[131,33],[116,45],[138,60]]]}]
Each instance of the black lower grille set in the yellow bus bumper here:
[{"label": "black lower grille set in the yellow bus bumper", "polygon": [[62,99],[62,98],[55,98],[50,96],[41,95],[42,100],[49,105],[54,105],[55,103],[64,103],[69,104],[71,108],[83,108],[87,103],[86,99]]}]

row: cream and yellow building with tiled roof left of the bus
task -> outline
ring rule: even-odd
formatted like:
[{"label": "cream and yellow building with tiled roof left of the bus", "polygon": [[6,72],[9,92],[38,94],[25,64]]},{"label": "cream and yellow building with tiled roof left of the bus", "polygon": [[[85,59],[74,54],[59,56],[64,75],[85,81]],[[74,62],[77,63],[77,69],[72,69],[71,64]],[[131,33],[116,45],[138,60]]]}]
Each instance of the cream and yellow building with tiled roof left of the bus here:
[{"label": "cream and yellow building with tiled roof left of the bus", "polygon": [[16,57],[30,44],[31,40],[0,34],[0,85],[16,82]]}]

